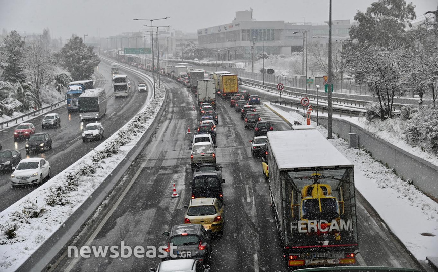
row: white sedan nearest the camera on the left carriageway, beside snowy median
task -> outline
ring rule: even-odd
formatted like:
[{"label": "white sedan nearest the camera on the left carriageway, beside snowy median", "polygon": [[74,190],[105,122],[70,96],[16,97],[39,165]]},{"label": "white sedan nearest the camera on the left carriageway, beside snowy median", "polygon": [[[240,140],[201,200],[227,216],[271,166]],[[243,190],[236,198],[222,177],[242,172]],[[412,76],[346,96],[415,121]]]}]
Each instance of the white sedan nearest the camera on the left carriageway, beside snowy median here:
[{"label": "white sedan nearest the camera on the left carriageway, beside snowy median", "polygon": [[[13,168],[14,169],[14,168]],[[44,179],[51,175],[50,164],[41,158],[28,158],[21,160],[11,174],[11,185],[17,187],[28,184],[42,184]]]}]

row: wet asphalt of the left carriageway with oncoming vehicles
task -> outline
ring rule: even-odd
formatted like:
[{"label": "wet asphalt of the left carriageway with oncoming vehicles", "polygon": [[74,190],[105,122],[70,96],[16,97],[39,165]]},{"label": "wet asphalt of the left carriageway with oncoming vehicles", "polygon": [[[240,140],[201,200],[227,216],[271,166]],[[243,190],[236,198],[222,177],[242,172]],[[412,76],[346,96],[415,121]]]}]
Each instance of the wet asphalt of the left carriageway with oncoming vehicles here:
[{"label": "wet asphalt of the left carriageway with oncoming vehicles", "polygon": [[[121,69],[121,72],[127,72]],[[132,81],[133,90],[127,98],[115,98],[112,87],[111,68],[108,63],[100,62],[95,71],[96,82],[94,87],[104,88],[106,90],[107,112],[99,122],[102,123],[105,130],[105,139],[119,130],[127,121],[144,107],[148,99],[149,93],[138,93],[136,86],[139,78],[127,73]],[[143,81],[143,80],[142,80]],[[152,88],[150,83],[147,83],[148,89]],[[25,140],[14,142],[14,128],[19,124],[3,130],[0,133],[0,143],[3,149],[15,149],[21,153],[22,158],[41,157],[46,159],[51,168],[52,176],[62,172],[71,164],[87,154],[90,150],[100,145],[102,141],[82,142],[82,129],[85,128],[89,121],[81,122],[77,112],[68,113],[67,106],[52,111],[58,113],[61,118],[61,127],[46,128],[42,130],[41,121],[43,116],[36,117],[29,121],[32,123],[36,132],[47,132],[53,140],[53,148],[44,153],[32,153],[26,155]],[[21,188],[12,188],[10,182],[11,172],[0,173],[0,211],[3,211],[17,200],[35,190],[38,186],[31,185]]]}]

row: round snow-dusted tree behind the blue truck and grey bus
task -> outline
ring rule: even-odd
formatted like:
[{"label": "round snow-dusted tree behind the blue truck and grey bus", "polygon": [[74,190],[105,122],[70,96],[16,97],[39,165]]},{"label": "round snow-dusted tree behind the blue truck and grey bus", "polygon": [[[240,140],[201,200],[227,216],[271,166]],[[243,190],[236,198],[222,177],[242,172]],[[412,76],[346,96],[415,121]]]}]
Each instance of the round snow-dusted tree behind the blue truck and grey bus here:
[{"label": "round snow-dusted tree behind the blue truck and grey bus", "polygon": [[82,38],[73,36],[57,54],[61,65],[66,68],[74,80],[90,79],[100,59],[92,46],[86,46]]}]

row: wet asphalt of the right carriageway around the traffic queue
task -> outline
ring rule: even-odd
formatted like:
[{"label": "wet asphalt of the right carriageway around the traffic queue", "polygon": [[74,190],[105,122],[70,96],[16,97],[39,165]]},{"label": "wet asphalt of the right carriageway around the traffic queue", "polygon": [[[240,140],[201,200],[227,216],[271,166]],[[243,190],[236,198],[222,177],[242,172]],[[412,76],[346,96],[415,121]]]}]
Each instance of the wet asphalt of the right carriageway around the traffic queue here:
[{"label": "wet asphalt of the right carriageway around the traffic queue", "polygon": [[[170,79],[163,81],[169,87],[169,101],[160,125],[125,173],[116,192],[95,215],[97,219],[91,220],[72,242],[75,245],[88,241],[92,246],[120,247],[124,241],[131,248],[161,246],[165,243],[161,233],[184,222],[183,206],[189,202],[189,184],[193,177],[189,159],[193,133],[186,132],[189,126],[193,131],[199,116],[192,111],[193,94]],[[272,99],[269,94],[259,95],[262,101]],[[263,120],[275,123],[276,130],[290,129],[266,107],[256,107]],[[217,112],[220,124],[216,154],[225,179],[226,225],[224,235],[212,242],[212,271],[290,271],[280,250],[260,158],[251,155],[249,140],[253,132],[244,129],[240,115],[229,106],[229,100],[220,99]],[[179,198],[171,198],[173,183]],[[127,193],[120,193],[124,188],[129,188]],[[385,225],[375,218],[372,208],[358,196],[359,264],[419,269]],[[60,253],[51,271],[147,271],[160,262],[158,258],[134,256],[68,258],[65,253]]]}]

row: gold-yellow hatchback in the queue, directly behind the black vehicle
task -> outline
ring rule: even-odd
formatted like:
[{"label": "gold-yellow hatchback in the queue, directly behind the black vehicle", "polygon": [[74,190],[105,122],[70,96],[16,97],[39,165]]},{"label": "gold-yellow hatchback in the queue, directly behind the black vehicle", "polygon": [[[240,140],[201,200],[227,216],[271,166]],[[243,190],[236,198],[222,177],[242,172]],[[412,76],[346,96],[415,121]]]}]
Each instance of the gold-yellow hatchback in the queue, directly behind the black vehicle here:
[{"label": "gold-yellow hatchback in the queue, directly behind the black vehicle", "polygon": [[184,217],[186,224],[201,224],[205,230],[213,233],[222,233],[224,220],[224,206],[217,198],[200,197],[191,199]]}]

